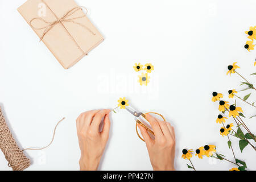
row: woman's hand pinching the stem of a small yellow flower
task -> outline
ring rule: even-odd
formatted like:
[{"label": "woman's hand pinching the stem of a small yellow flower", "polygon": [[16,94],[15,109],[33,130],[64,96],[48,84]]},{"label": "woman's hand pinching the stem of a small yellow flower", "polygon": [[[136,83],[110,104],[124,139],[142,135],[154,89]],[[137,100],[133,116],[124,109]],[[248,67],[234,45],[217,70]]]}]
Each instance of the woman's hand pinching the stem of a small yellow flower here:
[{"label": "woman's hand pinching the stem of a small yellow flower", "polygon": [[[95,171],[109,139],[110,110],[86,111],[76,119],[77,135],[81,150],[80,170]],[[104,119],[104,127],[99,131]]]}]

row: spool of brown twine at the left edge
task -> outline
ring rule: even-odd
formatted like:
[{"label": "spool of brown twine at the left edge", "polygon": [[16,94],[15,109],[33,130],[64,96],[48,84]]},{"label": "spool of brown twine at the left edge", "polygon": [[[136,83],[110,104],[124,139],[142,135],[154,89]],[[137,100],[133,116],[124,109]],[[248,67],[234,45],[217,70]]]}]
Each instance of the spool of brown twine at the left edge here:
[{"label": "spool of brown twine at the left edge", "polygon": [[30,166],[28,159],[15,142],[0,107],[0,148],[13,171],[23,171]]}]

